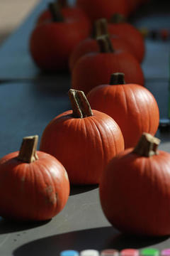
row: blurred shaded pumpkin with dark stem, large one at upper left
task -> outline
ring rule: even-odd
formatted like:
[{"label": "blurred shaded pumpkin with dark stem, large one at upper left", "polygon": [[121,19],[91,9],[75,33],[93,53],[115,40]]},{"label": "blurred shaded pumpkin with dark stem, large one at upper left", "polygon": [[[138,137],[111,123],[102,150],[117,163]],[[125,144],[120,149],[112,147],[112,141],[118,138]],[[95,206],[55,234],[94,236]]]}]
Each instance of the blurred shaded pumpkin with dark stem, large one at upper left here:
[{"label": "blurred shaded pumpkin with dark stem, large one at upper left", "polygon": [[30,54],[42,70],[68,69],[69,55],[77,44],[89,36],[79,19],[62,15],[56,4],[50,4],[52,21],[36,26],[30,35]]}]

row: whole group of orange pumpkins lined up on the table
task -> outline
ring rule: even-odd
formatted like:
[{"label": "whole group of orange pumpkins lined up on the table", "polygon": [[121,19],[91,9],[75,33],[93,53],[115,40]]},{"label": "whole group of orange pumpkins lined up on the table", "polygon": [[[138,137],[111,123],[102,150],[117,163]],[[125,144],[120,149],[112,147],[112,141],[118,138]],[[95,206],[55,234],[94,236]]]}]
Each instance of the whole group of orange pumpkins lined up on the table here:
[{"label": "whole group of orange pumpkins lined up on the table", "polygon": [[[66,205],[70,183],[98,183],[103,213],[115,228],[138,235],[169,235],[170,156],[157,149],[160,141],[154,137],[159,108],[143,86],[140,61],[144,42],[136,42],[136,49],[131,46],[134,55],[117,48],[125,43],[115,43],[121,41],[121,36],[111,36],[112,24],[110,29],[106,21],[111,18],[113,2],[116,12],[128,16],[125,3],[131,3],[132,11],[141,1],[77,0],[82,9],[58,2],[50,4],[51,12],[45,11],[38,18],[30,50],[42,69],[69,66],[72,70],[72,89],[68,93],[72,110],[45,127],[40,151],[38,136],[25,137],[20,151],[0,160],[0,215],[47,220]],[[58,9],[58,4],[64,7]],[[51,21],[51,15],[56,21]],[[96,39],[82,41],[94,20]],[[124,25],[122,36],[130,38],[128,27],[136,30],[128,23]],[[120,32],[116,26],[115,31]],[[109,36],[102,34],[106,30]],[[75,38],[77,43],[81,41],[77,48],[73,47]],[[86,46],[93,53],[76,60],[81,50],[91,51]]]}]

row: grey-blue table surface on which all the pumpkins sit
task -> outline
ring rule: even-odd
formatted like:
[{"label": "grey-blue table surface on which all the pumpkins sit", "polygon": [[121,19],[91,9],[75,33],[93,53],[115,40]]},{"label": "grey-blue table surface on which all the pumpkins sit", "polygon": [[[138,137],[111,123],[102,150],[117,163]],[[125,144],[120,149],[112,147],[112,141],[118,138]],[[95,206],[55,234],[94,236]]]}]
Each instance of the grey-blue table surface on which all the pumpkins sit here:
[{"label": "grey-blue table surface on which all the pumpkins sit", "polygon": [[[45,1],[42,1],[0,49],[3,60],[0,62],[0,157],[18,150],[24,136],[38,134],[41,137],[47,123],[70,108],[67,97],[70,75],[40,73],[28,52],[30,32],[44,8]],[[137,26],[148,23],[155,26],[157,15],[146,18],[137,14],[133,22]],[[159,14],[159,19],[158,26],[162,24],[163,28],[164,15]],[[148,39],[146,46],[147,54],[142,64],[146,86],[157,98],[161,116],[167,117],[169,41]],[[158,131],[157,137],[162,139],[160,149],[170,152],[169,133]],[[47,222],[11,223],[0,217],[0,255],[3,256],[53,256],[59,255],[61,250],[89,248],[155,247],[162,250],[169,245],[169,237],[137,238],[111,227],[101,210],[98,186],[72,187],[64,210]]]}]

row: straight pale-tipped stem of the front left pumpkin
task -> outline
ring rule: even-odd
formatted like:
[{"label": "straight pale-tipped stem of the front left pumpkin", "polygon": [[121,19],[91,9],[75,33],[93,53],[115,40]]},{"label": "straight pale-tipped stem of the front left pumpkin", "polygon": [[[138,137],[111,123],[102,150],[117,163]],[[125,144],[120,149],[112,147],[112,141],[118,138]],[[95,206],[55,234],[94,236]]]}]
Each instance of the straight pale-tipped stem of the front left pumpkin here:
[{"label": "straight pale-tipped stem of the front left pumpkin", "polygon": [[18,160],[24,163],[32,163],[38,160],[37,155],[38,135],[23,137],[23,142],[18,154]]}]

